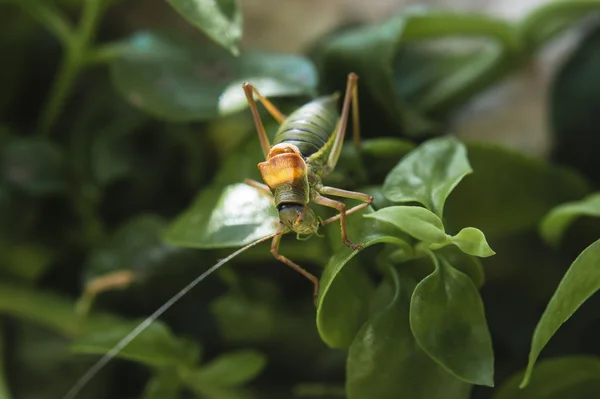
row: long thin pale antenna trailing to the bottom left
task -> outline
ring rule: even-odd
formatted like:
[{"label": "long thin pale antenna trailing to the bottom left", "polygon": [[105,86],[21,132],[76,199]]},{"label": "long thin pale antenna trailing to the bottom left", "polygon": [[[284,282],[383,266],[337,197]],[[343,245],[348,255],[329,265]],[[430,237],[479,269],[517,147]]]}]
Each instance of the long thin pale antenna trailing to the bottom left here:
[{"label": "long thin pale antenna trailing to the bottom left", "polygon": [[177,294],[173,295],[171,299],[165,302],[160,308],[158,308],[154,313],[148,316],[144,321],[142,321],[136,328],[134,328],[129,334],[127,334],[121,341],[119,341],[110,351],[108,351],[100,360],[96,362],[90,369],[73,385],[73,387],[67,392],[67,394],[63,397],[63,399],[73,399],[75,396],[83,389],[83,387],[91,381],[92,378],[98,374],[100,370],[104,366],[108,364],[123,348],[125,348],[131,341],[133,341],[138,335],[140,335],[146,328],[148,328],[156,319],[158,319],[163,313],[165,313],[171,306],[175,304],[178,300],[180,300],[185,294],[190,292],[196,285],[198,285],[202,280],[208,277],[211,273],[217,270],[219,267],[223,266],[225,263],[229,262],[231,259],[238,256],[240,253],[245,250],[252,248],[253,246],[260,244],[261,242],[265,242],[276,235],[281,234],[281,232],[277,232],[271,234],[269,236],[260,238],[250,244],[246,245],[233,252],[228,257],[221,259],[217,264],[213,267],[202,273],[200,276],[196,277],[191,283],[186,285],[181,291]]}]

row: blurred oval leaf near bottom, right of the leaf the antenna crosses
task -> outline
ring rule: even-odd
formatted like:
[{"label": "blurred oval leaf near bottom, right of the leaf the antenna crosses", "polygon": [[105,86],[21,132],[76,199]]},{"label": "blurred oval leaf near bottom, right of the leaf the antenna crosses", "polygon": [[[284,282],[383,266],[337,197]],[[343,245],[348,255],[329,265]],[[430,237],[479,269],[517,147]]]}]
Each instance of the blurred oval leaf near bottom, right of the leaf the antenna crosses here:
[{"label": "blurred oval leaf near bottom, right of the leaf the antenna crosses", "polygon": [[233,387],[254,378],[267,365],[267,358],[255,350],[226,353],[205,366],[186,374],[188,384],[197,386]]}]

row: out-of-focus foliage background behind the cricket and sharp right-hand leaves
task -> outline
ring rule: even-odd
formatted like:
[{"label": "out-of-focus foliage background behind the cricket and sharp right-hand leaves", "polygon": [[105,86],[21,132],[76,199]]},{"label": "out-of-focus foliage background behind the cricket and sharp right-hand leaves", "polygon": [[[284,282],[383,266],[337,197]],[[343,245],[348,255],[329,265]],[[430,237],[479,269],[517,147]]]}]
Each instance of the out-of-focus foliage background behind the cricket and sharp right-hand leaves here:
[{"label": "out-of-focus foliage background behind the cricket and sharp right-hand leaves", "polygon": [[[61,398],[136,322],[260,237],[261,221],[243,237],[208,225],[224,189],[259,178],[241,82],[263,84],[289,113],[342,90],[351,71],[361,77],[365,148],[362,163],[345,148],[331,185],[376,195],[410,150],[446,134],[465,141],[475,171],[449,197],[444,224],[452,233],[480,228],[496,252],[481,262],[480,288],[495,388],[461,385],[436,397],[597,397],[597,296],[542,356],[562,357],[540,362],[530,391],[515,388],[550,297],[600,237],[595,211],[581,212],[557,245],[538,231],[555,206],[600,185],[597,1],[219,1],[220,13],[243,19],[240,58],[178,3],[0,0],[0,399]],[[435,40],[424,43],[427,35]],[[251,199],[237,216],[271,220],[272,209]],[[376,195],[375,205],[388,204]],[[282,253],[320,274],[336,229],[326,240],[290,237]],[[355,260],[365,275],[380,271],[377,248]],[[184,296],[79,397],[366,397],[364,386],[348,385],[347,348],[322,340],[310,290],[266,244],[252,248]],[[393,382],[390,370],[380,372]],[[423,370],[402,381],[448,378]],[[398,396],[405,386],[378,397],[421,397]]]}]

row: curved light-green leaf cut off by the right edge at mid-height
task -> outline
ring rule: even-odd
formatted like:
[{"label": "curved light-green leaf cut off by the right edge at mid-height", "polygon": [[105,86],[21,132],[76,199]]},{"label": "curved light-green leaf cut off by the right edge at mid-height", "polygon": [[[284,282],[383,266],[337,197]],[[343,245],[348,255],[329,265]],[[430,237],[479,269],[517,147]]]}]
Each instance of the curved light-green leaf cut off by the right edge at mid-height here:
[{"label": "curved light-green leaf cut off by the right edge at mid-height", "polygon": [[552,209],[542,220],[540,233],[546,242],[557,246],[569,225],[580,216],[600,217],[600,193]]}]

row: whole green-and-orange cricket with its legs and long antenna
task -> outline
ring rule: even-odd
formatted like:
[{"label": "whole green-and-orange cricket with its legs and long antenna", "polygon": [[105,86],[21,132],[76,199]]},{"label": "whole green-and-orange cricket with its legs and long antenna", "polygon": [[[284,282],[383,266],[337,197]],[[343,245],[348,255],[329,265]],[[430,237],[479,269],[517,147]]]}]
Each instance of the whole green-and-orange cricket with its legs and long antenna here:
[{"label": "whole green-and-orange cricket with its legs and long antenna", "polygon": [[[350,241],[346,230],[346,218],[348,215],[369,206],[373,201],[373,197],[365,193],[324,186],[322,182],[323,178],[334,170],[340,157],[351,106],[353,141],[356,146],[360,147],[357,82],[358,75],[355,73],[348,74],[341,113],[338,113],[339,93],[334,93],[310,101],[289,116],[282,114],[251,83],[244,83],[243,90],[265,156],[265,161],[258,164],[264,183],[250,179],[246,179],[245,183],[272,199],[279,212],[280,221],[277,231],[236,250],[196,277],[98,360],[75,383],[63,399],[74,399],[81,389],[112,358],[211,273],[240,253],[262,242],[272,239],[271,254],[275,259],[296,270],[312,282],[313,300],[316,304],[319,293],[319,279],[294,261],[281,255],[279,245],[284,234],[294,232],[298,239],[309,238],[317,234],[321,226],[339,220],[341,239],[344,244],[354,250],[361,249],[364,246],[362,243],[355,244]],[[255,96],[279,123],[272,146],[261,120],[254,99]],[[331,199],[329,196],[355,199],[362,202],[346,209],[343,202]],[[311,209],[309,206],[311,202],[333,208],[337,210],[337,214],[323,220]]]}]

